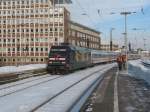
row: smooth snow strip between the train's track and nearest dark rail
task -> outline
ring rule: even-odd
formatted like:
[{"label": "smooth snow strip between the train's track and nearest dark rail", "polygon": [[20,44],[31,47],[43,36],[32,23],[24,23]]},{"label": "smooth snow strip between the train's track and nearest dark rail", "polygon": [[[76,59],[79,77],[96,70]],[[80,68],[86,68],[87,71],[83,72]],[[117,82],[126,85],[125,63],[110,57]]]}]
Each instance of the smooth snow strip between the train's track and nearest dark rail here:
[{"label": "smooth snow strip between the train's track and nearest dark rail", "polygon": [[54,95],[64,90],[64,88],[68,88],[69,85],[76,83],[83,77],[93,72],[113,67],[114,65],[115,64],[108,64],[103,66],[101,65],[85,69],[84,71],[77,71],[72,73],[71,75],[63,76],[55,81],[53,80],[45,82],[40,85],[30,87],[7,96],[0,97],[0,107],[1,107],[0,111],[28,112],[31,109],[35,108],[37,105],[40,105],[41,102],[44,102],[47,99],[52,98]]}]

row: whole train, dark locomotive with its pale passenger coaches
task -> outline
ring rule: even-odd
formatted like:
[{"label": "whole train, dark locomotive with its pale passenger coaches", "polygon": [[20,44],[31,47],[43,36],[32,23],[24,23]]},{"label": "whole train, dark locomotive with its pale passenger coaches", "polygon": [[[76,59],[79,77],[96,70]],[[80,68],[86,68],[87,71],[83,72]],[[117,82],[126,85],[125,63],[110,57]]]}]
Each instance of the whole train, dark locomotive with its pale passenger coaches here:
[{"label": "whole train, dark locomotive with its pale passenger coaches", "polygon": [[51,46],[47,71],[64,74],[100,63],[116,61],[117,53],[93,50],[72,45]]}]

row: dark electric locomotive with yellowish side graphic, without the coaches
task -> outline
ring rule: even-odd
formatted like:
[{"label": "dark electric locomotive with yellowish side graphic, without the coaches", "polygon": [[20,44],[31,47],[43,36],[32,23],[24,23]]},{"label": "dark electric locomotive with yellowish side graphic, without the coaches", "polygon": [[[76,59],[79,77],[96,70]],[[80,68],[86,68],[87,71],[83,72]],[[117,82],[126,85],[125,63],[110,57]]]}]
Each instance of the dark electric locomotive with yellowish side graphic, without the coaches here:
[{"label": "dark electric locomotive with yellowish side graphic, without the coaches", "polygon": [[91,52],[87,48],[71,45],[52,46],[47,70],[50,73],[67,73],[91,64]]}]

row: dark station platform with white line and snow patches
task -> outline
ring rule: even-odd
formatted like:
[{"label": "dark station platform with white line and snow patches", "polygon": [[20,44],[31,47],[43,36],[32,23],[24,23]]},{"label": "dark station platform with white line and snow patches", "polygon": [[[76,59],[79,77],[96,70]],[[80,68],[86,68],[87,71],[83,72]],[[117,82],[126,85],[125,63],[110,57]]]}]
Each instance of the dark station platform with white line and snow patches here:
[{"label": "dark station platform with white line and snow patches", "polygon": [[149,112],[150,86],[126,71],[109,70],[80,112]]}]

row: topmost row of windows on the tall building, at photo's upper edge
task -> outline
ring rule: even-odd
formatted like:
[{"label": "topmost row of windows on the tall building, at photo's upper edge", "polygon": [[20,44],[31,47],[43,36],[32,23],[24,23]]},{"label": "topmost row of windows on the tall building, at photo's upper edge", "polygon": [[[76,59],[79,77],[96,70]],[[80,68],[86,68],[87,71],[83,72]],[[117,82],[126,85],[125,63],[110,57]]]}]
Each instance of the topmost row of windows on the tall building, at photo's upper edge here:
[{"label": "topmost row of windows on the tall building, at photo's upper edge", "polygon": [[0,2],[0,5],[20,5],[20,4],[32,4],[32,3],[48,3],[48,0],[16,0],[16,1],[3,1]]}]

